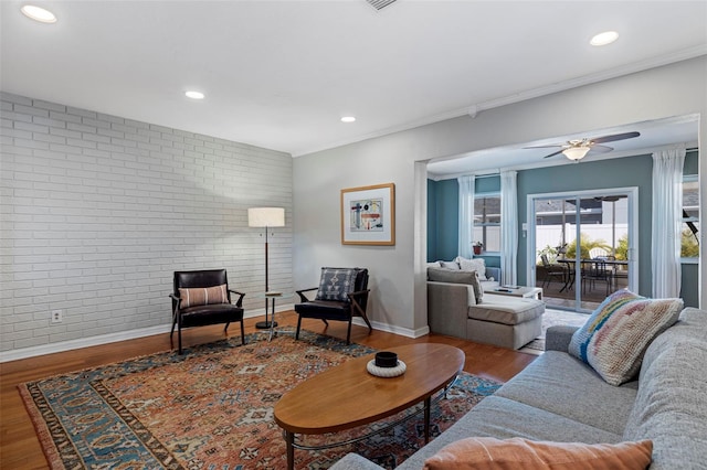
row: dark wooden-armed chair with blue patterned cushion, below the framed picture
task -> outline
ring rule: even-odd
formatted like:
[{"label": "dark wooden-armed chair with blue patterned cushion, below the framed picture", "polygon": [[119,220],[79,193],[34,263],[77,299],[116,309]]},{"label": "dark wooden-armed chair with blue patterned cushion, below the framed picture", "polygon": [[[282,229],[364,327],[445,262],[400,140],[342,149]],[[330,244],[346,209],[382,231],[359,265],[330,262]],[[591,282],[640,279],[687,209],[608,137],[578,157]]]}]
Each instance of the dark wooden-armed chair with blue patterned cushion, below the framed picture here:
[{"label": "dark wooden-armed chair with blue patterned cushion, below the framed picture", "polygon": [[[305,292],[316,290],[313,300]],[[366,268],[321,268],[318,287],[297,290],[302,303],[295,305],[298,314],[295,340],[299,339],[299,328],[303,318],[319,319],[328,327],[328,320],[348,322],[346,344],[351,342],[351,320],[361,317],[368,325],[369,333],[373,330],[366,308],[368,306],[368,269]]]}]

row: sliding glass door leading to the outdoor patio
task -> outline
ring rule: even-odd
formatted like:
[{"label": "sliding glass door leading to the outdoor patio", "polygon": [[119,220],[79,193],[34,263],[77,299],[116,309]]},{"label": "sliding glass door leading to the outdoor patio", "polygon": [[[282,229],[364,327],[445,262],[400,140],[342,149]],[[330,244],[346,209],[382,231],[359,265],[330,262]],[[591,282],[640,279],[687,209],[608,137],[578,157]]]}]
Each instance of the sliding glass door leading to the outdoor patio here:
[{"label": "sliding glass door leading to the outdoor patio", "polygon": [[528,196],[528,278],[548,307],[591,311],[636,290],[635,189]]}]

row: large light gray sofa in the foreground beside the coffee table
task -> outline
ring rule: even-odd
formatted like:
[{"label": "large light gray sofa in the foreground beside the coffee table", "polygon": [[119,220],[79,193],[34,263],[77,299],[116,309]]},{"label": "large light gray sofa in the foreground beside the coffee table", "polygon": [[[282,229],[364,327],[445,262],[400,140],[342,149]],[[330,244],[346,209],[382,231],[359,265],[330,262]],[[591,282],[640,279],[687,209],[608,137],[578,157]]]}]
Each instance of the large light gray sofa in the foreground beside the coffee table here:
[{"label": "large light gray sofa in the foreground beside the coffee table", "polygon": [[[639,380],[606,384],[569,355],[574,329],[553,327],[546,352],[398,468],[421,469],[468,436],[585,444],[651,439],[651,470],[707,469],[707,311],[687,308],[645,352]],[[349,453],[335,470],[380,469]]]}]

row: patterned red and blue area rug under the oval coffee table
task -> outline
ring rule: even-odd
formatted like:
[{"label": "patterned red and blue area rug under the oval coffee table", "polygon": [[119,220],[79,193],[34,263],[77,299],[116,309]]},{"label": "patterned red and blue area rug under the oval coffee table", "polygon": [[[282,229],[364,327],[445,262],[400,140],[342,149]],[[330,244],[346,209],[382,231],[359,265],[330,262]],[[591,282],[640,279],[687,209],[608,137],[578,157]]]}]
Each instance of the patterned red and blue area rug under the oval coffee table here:
[{"label": "patterned red and blue area rug under the oval coffee table", "polygon": [[[285,442],[273,420],[275,403],[307,377],[372,352],[305,331],[300,341],[281,334],[268,343],[258,332],[245,345],[236,337],[188,349],[181,356],[152,354],[22,384],[20,393],[54,469],[281,469]],[[433,407],[432,435],[499,386],[463,373]],[[346,440],[374,426],[380,424],[316,441]],[[394,468],[423,441],[420,413],[355,445],[295,450],[295,467],[328,468],[356,451]]]}]

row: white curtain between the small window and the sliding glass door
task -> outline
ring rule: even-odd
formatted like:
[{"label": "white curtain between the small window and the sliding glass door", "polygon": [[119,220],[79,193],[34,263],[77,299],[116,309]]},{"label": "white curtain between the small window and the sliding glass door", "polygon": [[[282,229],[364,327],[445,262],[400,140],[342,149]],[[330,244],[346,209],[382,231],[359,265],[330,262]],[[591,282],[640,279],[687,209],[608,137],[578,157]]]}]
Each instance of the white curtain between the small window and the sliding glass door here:
[{"label": "white curtain between the small window and the sliding glass door", "polygon": [[518,284],[518,190],[517,171],[500,173],[500,279]]}]

